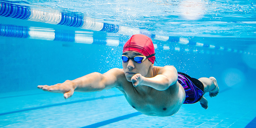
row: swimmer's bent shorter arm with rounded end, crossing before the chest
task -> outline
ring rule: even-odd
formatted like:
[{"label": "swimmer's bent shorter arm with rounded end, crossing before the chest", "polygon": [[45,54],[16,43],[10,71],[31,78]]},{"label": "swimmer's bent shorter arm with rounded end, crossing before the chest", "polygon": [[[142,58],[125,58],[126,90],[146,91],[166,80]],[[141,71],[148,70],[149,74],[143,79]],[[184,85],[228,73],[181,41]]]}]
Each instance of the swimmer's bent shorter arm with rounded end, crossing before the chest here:
[{"label": "swimmer's bent shorter arm with rounded end, crossing before the chest", "polygon": [[163,91],[168,89],[171,85],[176,84],[178,80],[178,73],[173,66],[164,66],[159,70],[158,75],[147,78],[140,74],[135,74],[131,78],[133,86],[146,85],[156,90]]}]

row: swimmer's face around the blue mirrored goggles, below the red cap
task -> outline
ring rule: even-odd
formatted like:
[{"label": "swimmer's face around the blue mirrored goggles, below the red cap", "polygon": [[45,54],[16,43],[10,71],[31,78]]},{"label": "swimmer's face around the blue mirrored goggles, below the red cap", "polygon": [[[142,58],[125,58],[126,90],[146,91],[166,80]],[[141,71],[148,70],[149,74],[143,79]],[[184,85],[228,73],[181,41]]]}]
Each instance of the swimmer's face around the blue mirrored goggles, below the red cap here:
[{"label": "swimmer's face around the blue mirrored goggles, below the red cap", "polygon": [[[129,58],[134,58],[134,56],[144,56],[143,54],[135,51],[126,51],[123,53],[123,55],[126,55]],[[137,73],[147,77],[147,75],[149,75],[149,69],[153,67],[152,62],[150,62],[148,59],[144,60],[141,63],[136,63],[134,60],[130,59],[128,62],[122,62],[122,65],[124,68],[125,77],[130,82],[132,76]]]}]

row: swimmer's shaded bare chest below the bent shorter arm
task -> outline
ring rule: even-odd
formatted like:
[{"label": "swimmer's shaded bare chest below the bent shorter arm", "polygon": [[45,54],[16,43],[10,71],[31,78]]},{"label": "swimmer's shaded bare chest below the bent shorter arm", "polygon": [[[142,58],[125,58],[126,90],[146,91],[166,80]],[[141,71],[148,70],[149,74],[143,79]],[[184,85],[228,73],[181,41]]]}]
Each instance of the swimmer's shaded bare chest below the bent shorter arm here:
[{"label": "swimmer's shaded bare chest below the bent shorter arm", "polygon": [[171,116],[177,112],[177,106],[180,106],[179,96],[173,87],[164,91],[150,88],[144,92],[131,84],[131,86],[125,86],[123,91],[128,103],[145,115]]}]

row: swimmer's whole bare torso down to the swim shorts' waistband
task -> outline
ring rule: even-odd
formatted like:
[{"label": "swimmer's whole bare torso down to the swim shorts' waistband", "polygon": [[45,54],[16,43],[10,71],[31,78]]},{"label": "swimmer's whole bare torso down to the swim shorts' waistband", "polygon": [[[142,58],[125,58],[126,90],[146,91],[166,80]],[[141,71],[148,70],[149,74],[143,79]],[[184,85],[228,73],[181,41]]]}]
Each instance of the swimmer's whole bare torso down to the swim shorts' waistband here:
[{"label": "swimmer's whole bare torso down to the swim shorts' waistband", "polygon": [[[153,76],[158,75],[162,67],[154,66]],[[116,87],[128,103],[137,111],[148,116],[171,116],[175,114],[185,100],[183,87],[176,82],[164,91],[158,91],[149,86],[134,87],[125,76],[120,78],[120,86]]]}]

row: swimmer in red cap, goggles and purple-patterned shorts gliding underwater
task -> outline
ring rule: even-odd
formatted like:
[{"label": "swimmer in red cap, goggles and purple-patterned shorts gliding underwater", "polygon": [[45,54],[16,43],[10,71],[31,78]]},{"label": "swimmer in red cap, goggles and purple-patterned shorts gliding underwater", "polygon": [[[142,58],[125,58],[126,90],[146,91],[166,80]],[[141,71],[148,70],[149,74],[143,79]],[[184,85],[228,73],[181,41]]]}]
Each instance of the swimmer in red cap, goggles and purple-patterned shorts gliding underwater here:
[{"label": "swimmer in red cap, goggles and purple-patterned shorts gliding underwater", "polygon": [[116,87],[134,109],[148,116],[171,116],[182,104],[198,101],[203,108],[208,108],[208,101],[203,95],[209,92],[210,97],[214,97],[219,92],[214,77],[191,78],[177,72],[173,66],[154,66],[155,59],[152,40],[137,34],[124,44],[123,69],[113,68],[104,74],[94,72],[61,84],[37,87],[64,93],[65,99],[74,91],[95,92]]}]

